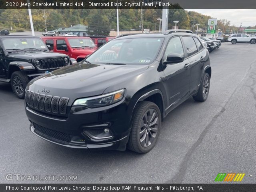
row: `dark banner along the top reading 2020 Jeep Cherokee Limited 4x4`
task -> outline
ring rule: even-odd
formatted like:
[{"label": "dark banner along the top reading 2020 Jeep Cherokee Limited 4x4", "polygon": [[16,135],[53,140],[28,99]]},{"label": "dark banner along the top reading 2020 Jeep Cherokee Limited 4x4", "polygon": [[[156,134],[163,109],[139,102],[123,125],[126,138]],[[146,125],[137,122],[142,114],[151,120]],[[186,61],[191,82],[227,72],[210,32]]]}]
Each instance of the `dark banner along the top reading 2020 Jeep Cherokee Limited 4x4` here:
[{"label": "dark banner along the top reading 2020 Jeep Cherokee Limited 4x4", "polygon": [[255,0],[0,0],[1,9],[256,8]]}]

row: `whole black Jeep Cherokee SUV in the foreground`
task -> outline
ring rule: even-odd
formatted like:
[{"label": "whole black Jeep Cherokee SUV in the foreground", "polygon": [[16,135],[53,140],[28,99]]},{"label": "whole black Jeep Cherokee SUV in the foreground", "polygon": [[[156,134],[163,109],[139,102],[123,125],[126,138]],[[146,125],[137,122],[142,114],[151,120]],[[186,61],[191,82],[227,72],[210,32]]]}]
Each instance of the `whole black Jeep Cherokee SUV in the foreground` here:
[{"label": "whole black Jeep Cherokee SUV in the foreground", "polygon": [[150,151],[164,117],[210,88],[209,53],[199,37],[168,30],[111,40],[86,60],[30,81],[30,130],[71,148]]}]

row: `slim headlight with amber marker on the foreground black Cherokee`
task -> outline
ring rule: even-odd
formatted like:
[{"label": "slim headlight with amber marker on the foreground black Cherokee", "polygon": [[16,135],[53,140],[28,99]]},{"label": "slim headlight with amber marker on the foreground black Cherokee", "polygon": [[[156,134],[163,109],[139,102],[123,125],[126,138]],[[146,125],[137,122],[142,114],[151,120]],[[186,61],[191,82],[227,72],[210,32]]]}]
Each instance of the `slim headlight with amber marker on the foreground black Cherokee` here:
[{"label": "slim headlight with amber marker on the foreground black Cherokee", "polygon": [[88,108],[103,107],[114,104],[124,98],[124,89],[100,95],[75,100],[73,106],[86,106]]}]

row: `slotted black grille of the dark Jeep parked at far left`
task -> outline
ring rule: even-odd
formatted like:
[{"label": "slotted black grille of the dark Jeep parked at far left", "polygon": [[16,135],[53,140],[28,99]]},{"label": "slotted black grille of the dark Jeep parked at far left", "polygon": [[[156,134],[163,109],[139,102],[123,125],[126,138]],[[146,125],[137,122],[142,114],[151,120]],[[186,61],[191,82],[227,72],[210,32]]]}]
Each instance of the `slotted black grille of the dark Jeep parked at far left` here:
[{"label": "slotted black grille of the dark Jeep parked at far left", "polygon": [[48,58],[48,59],[38,59],[40,61],[40,69],[56,69],[66,66],[65,58]]}]

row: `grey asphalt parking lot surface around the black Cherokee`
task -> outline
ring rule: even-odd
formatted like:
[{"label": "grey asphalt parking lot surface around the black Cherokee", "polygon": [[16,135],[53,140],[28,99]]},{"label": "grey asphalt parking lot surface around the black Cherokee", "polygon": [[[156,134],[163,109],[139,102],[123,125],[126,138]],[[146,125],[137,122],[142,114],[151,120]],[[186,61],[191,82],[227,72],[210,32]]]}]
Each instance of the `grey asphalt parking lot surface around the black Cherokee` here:
[{"label": "grey asphalt parking lot surface around the black Cherokee", "polygon": [[[218,173],[256,182],[256,45],[223,43],[210,54],[208,100],[170,112],[147,154],[70,149],[29,130],[24,100],[0,83],[0,183],[213,183]],[[6,174],[78,176],[6,180]]]}]

